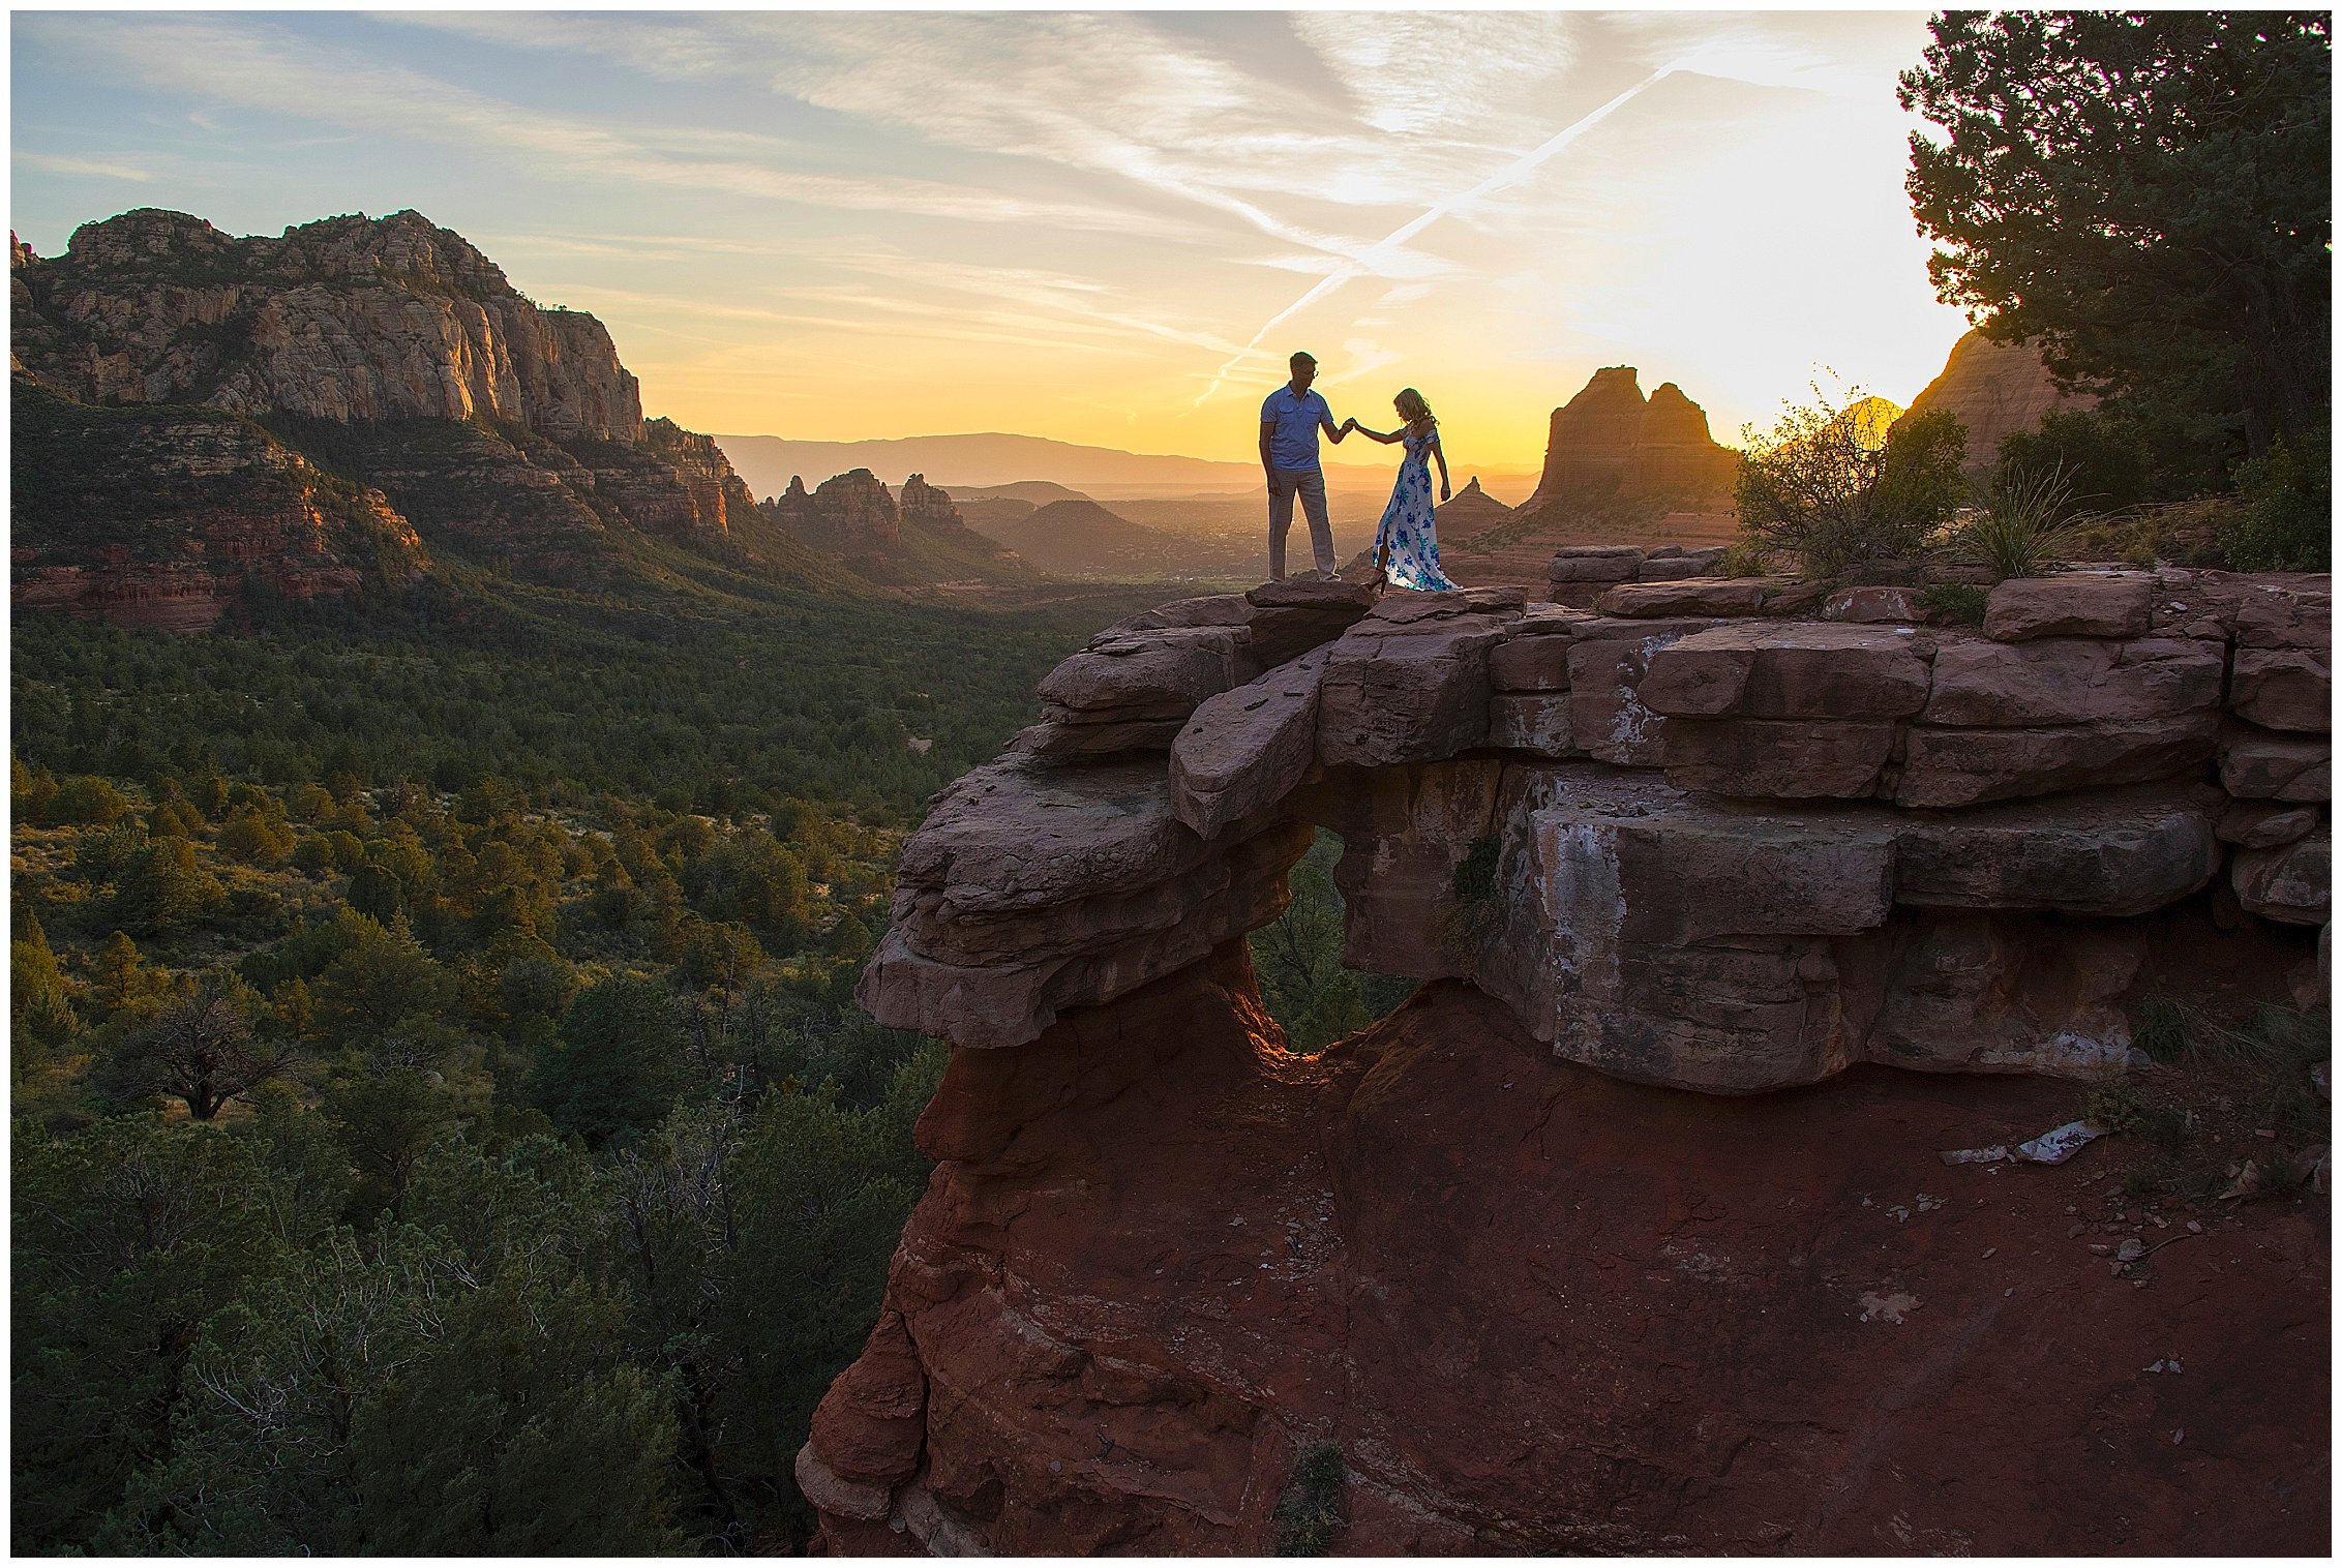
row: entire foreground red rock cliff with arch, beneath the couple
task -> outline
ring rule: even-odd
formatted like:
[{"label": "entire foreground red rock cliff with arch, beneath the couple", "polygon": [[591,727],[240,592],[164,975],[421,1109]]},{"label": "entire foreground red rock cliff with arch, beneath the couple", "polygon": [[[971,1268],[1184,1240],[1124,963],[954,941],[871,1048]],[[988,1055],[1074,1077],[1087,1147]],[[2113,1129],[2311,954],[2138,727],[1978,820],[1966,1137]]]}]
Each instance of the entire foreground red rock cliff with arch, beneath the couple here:
[{"label": "entire foreground red rock cliff with arch, beneath the couple", "polygon": [[[2120,1140],[1942,1151],[2145,1072],[2145,995],[2323,1004],[2330,580],[1649,564],[1166,604],[937,796],[824,1549],[1260,1554],[1335,1444],[1344,1554],[2326,1552],[2323,1198],[2105,1257]],[[1300,1058],[1244,934],[1316,828],[1422,988]]]}]

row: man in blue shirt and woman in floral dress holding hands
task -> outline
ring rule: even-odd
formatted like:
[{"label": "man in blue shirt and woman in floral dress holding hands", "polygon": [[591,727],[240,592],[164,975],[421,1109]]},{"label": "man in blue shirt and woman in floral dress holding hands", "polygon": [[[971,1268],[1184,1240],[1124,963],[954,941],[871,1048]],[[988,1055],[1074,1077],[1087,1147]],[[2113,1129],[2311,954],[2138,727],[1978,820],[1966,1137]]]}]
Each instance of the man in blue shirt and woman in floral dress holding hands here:
[{"label": "man in blue shirt and woman in floral dress holding hands", "polygon": [[1398,410],[1401,426],[1384,435],[1368,431],[1356,419],[1333,421],[1326,398],[1309,391],[1316,381],[1316,358],[1293,356],[1293,379],[1269,393],[1260,405],[1260,468],[1269,475],[1269,580],[1286,578],[1286,534],[1293,529],[1293,496],[1302,498],[1309,517],[1309,548],[1316,555],[1321,578],[1335,573],[1333,524],[1326,522],[1326,473],[1319,468],[1316,438],[1326,431],[1335,445],[1358,431],[1391,445],[1405,447],[1398,463],[1398,484],[1391,487],[1391,503],[1382,508],[1382,524],[1375,529],[1375,571],[1391,587],[1454,587],[1440,571],[1440,543],[1431,531],[1431,459],[1440,463],[1440,501],[1447,501],[1447,454],[1440,452],[1440,421],[1431,417],[1424,396],[1408,386],[1391,407]]}]

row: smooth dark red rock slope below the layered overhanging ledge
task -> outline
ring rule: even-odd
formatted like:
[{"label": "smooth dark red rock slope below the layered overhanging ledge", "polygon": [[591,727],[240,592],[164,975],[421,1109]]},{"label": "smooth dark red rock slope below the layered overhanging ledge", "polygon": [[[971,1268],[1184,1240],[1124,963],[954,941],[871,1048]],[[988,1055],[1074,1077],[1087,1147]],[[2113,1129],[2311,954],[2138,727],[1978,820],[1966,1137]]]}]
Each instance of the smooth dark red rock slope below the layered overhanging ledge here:
[{"label": "smooth dark red rock slope below the layered overhanging ledge", "polygon": [[1934,1158],[2070,1112],[1883,1070],[1635,1088],[1464,985],[1300,1060],[1232,960],[1187,971],[953,1058],[923,1140],[991,1154],[888,1294],[925,1472],[902,1535],[827,1545],[1265,1554],[1330,1439],[1344,1554],[2323,1554],[2316,1210],[2206,1215],[2134,1290],[2068,1238],[2120,1151]]}]

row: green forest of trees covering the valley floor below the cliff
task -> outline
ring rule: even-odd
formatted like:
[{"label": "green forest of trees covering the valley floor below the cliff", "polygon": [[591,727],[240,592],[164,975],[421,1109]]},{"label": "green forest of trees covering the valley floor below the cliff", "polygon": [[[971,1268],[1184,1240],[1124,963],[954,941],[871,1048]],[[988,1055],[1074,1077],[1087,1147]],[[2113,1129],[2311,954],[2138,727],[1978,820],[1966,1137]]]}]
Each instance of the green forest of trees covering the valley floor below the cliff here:
[{"label": "green forest of trees covering the valley floor below the cliff", "polygon": [[[944,1067],[850,995],[902,835],[1157,597],[23,615],[14,1547],[801,1549]],[[1302,1048],[1405,990],[1335,852]]]}]

